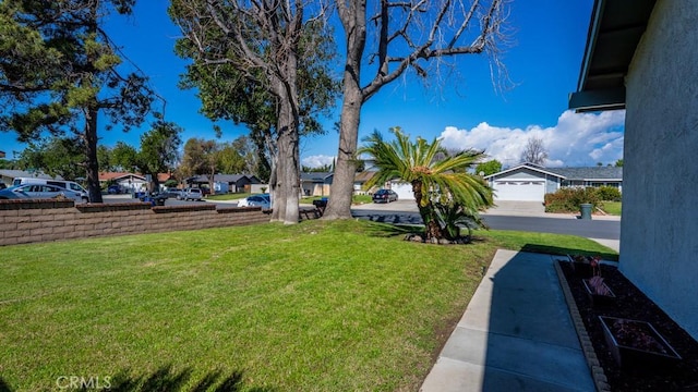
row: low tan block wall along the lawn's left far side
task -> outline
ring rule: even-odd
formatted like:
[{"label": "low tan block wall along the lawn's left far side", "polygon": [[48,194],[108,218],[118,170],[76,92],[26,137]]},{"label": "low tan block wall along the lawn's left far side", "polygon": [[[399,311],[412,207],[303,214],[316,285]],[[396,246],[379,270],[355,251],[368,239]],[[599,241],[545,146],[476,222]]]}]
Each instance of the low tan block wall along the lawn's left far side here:
[{"label": "low tan block wall along the lawn's left far side", "polygon": [[151,207],[148,203],[84,204],[72,200],[0,200],[0,245],[159,233],[264,223],[260,207],[215,205]]}]

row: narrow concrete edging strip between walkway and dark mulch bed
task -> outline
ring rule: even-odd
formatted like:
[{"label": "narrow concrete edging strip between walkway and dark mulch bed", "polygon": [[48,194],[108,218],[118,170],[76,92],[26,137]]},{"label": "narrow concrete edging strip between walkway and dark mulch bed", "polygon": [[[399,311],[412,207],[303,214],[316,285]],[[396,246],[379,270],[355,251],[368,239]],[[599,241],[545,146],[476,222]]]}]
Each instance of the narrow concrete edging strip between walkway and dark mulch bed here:
[{"label": "narrow concrete edging strip between walkway and dark mulch bed", "polygon": [[563,294],[565,295],[565,301],[567,302],[567,308],[569,309],[569,316],[571,317],[571,321],[575,324],[575,330],[577,330],[577,338],[579,339],[581,351],[587,358],[587,365],[589,366],[589,370],[591,371],[591,378],[593,379],[593,383],[597,387],[597,391],[611,392],[609,379],[603,372],[603,367],[601,367],[599,363],[597,353],[593,351],[591,340],[589,339],[589,333],[587,333],[585,322],[579,315],[579,309],[577,308],[575,298],[573,297],[571,291],[569,290],[569,284],[567,284],[567,279],[565,278],[565,274],[559,267],[559,262],[554,258],[553,265],[555,266],[555,272],[557,272],[557,281],[559,282],[559,286],[563,289]]}]

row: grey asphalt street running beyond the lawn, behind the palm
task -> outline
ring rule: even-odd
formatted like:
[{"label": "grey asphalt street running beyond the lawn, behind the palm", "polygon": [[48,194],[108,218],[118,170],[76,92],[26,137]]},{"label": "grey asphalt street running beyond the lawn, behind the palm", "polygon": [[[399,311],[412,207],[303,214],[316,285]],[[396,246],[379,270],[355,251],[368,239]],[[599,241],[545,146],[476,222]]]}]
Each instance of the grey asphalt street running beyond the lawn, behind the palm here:
[{"label": "grey asphalt street running beyond the lawn, behind the palm", "polygon": [[[394,224],[423,224],[417,212],[387,210],[352,210],[352,216],[376,222]],[[617,220],[581,220],[542,217],[483,216],[490,229],[517,230],[538,233],[571,234],[588,238],[619,240],[621,222]]]}]

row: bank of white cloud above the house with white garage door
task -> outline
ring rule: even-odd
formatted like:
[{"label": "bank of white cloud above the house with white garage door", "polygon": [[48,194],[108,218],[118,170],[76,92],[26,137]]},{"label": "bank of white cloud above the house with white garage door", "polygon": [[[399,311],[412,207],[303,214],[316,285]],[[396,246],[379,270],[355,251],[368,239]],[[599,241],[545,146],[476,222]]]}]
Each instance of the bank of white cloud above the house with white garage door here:
[{"label": "bank of white cloud above the house with white garage door", "polygon": [[585,167],[614,163],[623,158],[625,111],[600,114],[565,111],[551,127],[498,127],[485,122],[471,130],[447,126],[440,138],[446,148],[484,149],[505,167],[519,163],[529,137],[543,139],[549,167]]}]

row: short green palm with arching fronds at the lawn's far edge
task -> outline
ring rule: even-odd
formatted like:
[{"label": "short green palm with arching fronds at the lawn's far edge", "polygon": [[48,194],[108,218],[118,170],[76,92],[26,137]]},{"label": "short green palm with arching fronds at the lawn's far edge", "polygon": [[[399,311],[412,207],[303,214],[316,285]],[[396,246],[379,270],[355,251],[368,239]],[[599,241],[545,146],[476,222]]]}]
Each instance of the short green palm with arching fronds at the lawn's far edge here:
[{"label": "short green palm with arching fronds at the lawn's far edge", "polygon": [[430,144],[421,137],[416,143],[399,127],[390,128],[396,139],[386,142],[378,131],[363,139],[358,154],[369,155],[377,173],[366,187],[399,179],[412,184],[414,200],[425,225],[426,241],[450,237],[436,205],[453,205],[472,221],[482,224],[479,211],[493,205],[492,189],[478,175],[465,169],[482,161],[483,151],[447,152],[436,138]]}]

